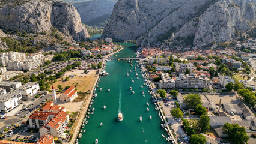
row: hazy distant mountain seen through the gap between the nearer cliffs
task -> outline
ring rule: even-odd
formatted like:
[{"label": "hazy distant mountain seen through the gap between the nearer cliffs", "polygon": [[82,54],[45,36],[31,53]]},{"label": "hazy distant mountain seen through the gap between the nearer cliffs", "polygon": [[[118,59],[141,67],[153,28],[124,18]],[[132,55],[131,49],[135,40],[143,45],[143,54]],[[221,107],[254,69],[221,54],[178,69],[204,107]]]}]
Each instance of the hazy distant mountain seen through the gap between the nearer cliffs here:
[{"label": "hazy distant mountain seen through the gap between the nearer cliffs", "polygon": [[114,0],[94,0],[73,4],[81,16],[82,23],[89,26],[106,25],[115,6]]}]

